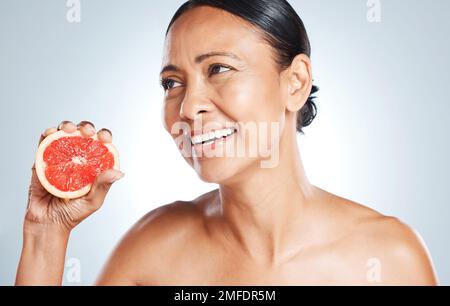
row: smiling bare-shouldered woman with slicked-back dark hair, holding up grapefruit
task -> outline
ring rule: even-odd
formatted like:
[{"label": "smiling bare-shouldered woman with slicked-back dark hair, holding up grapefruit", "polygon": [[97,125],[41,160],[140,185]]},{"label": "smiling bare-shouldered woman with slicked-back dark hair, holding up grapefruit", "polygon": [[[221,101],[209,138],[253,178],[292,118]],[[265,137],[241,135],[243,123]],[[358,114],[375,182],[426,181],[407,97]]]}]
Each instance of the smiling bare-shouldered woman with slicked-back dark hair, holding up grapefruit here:
[{"label": "smiling bare-shouldered woman with slicked-back dark hair, holding up grapefruit", "polygon": [[[407,225],[308,181],[296,134],[316,115],[317,88],[306,30],[287,1],[188,1],[169,25],[161,80],[167,131],[199,177],[219,189],[143,217],[99,285],[437,283]],[[256,134],[247,123],[258,123]],[[89,122],[59,129],[96,132]],[[106,129],[98,134],[112,140]],[[255,139],[269,155],[237,156]],[[211,154],[219,151],[226,155]],[[61,284],[70,232],[122,176],[107,171],[86,197],[65,203],[33,170],[18,285]]]}]

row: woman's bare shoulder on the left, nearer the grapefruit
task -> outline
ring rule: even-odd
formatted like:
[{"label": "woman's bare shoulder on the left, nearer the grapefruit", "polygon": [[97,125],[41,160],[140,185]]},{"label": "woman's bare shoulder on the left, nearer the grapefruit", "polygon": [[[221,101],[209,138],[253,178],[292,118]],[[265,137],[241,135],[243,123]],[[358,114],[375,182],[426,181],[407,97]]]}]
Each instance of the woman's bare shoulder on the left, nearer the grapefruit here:
[{"label": "woman's bare shoulder on the left, nearer the grapefruit", "polygon": [[142,217],[120,241],[97,283],[149,284],[170,275],[180,256],[189,256],[205,235],[202,197],[164,205]]}]

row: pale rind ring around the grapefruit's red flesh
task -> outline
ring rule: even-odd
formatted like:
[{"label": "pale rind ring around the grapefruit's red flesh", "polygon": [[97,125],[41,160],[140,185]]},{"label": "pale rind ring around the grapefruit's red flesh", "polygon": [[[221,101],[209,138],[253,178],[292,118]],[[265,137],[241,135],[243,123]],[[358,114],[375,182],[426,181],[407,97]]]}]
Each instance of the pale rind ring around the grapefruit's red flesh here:
[{"label": "pale rind ring around the grapefruit's red flesh", "polygon": [[[46,176],[45,176],[45,168],[46,163],[44,161],[44,152],[47,149],[47,147],[54,142],[55,140],[58,140],[63,137],[84,137],[80,131],[76,131],[75,133],[66,133],[64,131],[58,131],[56,133],[53,133],[46,137],[41,144],[39,145],[39,148],[36,153],[36,174],[39,178],[39,181],[41,185],[47,190],[50,194],[54,195],[55,197],[61,198],[61,199],[77,199],[81,198],[89,193],[89,191],[92,188],[92,184],[89,184],[77,191],[70,191],[70,192],[64,192],[59,189],[57,189],[55,186],[51,185]],[[97,134],[95,136],[91,137],[93,140],[98,140]],[[120,170],[120,164],[119,164],[119,154],[117,152],[116,147],[112,143],[102,143],[108,150],[111,152],[111,154],[114,156],[114,170]]]}]

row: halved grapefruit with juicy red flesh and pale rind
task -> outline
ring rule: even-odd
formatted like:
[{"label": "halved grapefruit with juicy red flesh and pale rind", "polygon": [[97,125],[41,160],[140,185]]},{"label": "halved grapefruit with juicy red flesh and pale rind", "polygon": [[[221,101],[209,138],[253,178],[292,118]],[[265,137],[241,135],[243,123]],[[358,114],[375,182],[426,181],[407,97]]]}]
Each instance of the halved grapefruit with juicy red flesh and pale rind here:
[{"label": "halved grapefruit with juicy red flesh and pale rind", "polygon": [[102,172],[120,170],[113,144],[99,141],[97,134],[84,137],[80,131],[59,131],[45,138],[39,145],[35,165],[42,186],[62,199],[81,198]]}]

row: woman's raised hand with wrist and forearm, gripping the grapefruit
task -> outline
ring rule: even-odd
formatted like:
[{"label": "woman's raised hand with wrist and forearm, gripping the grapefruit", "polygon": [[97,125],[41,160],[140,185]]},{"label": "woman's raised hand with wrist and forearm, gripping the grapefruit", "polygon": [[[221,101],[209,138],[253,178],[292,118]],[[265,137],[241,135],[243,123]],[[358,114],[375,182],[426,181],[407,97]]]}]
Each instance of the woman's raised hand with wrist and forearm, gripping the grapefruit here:
[{"label": "woman's raised hand with wrist and forearm, gripping the grapefruit", "polygon": [[[69,134],[80,130],[86,137],[96,133],[90,122],[75,125],[65,121],[58,128],[47,129],[39,143],[58,130]],[[112,141],[112,134],[107,129],[100,130],[97,136],[102,142]],[[16,285],[61,285],[70,232],[103,205],[111,185],[122,177],[120,171],[105,171],[96,178],[86,196],[63,200],[47,192],[38,179],[35,166],[32,167]]]}]

